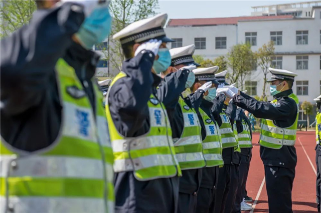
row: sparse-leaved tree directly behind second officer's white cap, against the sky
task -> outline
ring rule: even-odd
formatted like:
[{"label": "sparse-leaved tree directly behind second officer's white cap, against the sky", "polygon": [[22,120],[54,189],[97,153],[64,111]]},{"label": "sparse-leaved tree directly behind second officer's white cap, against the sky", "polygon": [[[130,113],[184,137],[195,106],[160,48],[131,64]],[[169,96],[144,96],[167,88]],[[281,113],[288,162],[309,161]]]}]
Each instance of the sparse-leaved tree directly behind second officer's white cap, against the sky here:
[{"label": "sparse-leaved tree directly behind second officer's white cap, against the sky", "polygon": [[102,52],[109,60],[109,65],[120,71],[124,56],[120,42],[112,39],[113,34],[134,21],[155,15],[158,0],[111,0],[109,8],[113,16],[113,27],[108,38],[108,48]]}]

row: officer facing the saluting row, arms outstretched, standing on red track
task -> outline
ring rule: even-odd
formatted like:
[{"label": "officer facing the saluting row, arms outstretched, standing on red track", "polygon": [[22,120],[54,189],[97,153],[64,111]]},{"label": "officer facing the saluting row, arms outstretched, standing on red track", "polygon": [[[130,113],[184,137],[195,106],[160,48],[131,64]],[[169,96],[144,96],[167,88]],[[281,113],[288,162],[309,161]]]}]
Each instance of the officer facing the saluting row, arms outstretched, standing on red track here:
[{"label": "officer facing the saluting row, arms outstretched, standing on red track", "polygon": [[260,134],[260,155],[265,169],[269,212],[292,212],[292,185],[295,176],[296,151],[294,147],[298,120],[298,98],[292,91],[296,73],[269,68],[272,77],[270,92],[274,100],[258,101],[238,91],[229,90],[233,102],[263,118]]}]

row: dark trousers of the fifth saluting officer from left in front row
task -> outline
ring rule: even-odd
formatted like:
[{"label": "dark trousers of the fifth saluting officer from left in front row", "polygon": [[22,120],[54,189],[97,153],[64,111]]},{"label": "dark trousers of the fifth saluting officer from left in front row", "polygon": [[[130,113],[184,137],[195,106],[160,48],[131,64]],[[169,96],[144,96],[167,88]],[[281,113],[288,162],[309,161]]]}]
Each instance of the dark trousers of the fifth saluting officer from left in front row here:
[{"label": "dark trousers of the fifth saluting officer from left in front row", "polygon": [[[238,185],[239,171],[238,165],[224,164],[219,170],[219,180],[215,194],[215,213],[223,213],[226,206],[227,210],[232,210],[235,200],[236,189]],[[235,193],[229,191],[234,191]],[[234,198],[233,198],[234,196]],[[229,200],[231,198],[233,200]]]}]

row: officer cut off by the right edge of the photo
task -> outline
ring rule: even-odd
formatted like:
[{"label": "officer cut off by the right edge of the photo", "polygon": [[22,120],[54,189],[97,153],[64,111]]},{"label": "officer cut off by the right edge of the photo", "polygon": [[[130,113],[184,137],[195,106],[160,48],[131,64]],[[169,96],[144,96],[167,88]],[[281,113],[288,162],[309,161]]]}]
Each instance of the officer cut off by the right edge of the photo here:
[{"label": "officer cut off by the right edge of the photo", "polygon": [[[317,202],[317,211],[320,212],[320,182],[321,182],[321,175],[320,175],[320,168],[319,168],[319,158],[321,161],[321,95],[319,95],[317,98],[314,98],[313,100],[316,101],[316,107],[317,107],[317,113],[315,116],[315,140],[316,140],[316,146],[315,146],[315,163],[316,163],[316,200]],[[320,156],[320,157],[319,157]]]}]

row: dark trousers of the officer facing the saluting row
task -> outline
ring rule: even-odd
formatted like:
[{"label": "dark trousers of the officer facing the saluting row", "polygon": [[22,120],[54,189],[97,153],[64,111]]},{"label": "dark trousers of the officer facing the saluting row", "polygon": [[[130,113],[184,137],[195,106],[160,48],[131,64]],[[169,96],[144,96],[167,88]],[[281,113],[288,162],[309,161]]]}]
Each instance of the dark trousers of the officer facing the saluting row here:
[{"label": "dark trousers of the officer facing the saluting row", "polygon": [[295,168],[264,165],[270,213],[292,213]]}]

